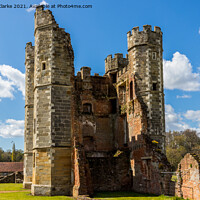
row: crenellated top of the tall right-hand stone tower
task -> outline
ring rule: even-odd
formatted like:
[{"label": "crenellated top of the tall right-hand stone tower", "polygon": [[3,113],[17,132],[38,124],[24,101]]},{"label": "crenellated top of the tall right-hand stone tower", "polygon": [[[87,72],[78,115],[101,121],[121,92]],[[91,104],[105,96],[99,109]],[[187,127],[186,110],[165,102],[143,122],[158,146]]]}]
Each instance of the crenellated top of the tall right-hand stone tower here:
[{"label": "crenellated top of the tall right-hand stone tower", "polygon": [[127,33],[127,40],[128,51],[138,45],[162,46],[162,32],[158,26],[154,26],[154,31],[152,31],[151,25],[144,25],[142,31],[139,31],[139,27],[137,26]]}]

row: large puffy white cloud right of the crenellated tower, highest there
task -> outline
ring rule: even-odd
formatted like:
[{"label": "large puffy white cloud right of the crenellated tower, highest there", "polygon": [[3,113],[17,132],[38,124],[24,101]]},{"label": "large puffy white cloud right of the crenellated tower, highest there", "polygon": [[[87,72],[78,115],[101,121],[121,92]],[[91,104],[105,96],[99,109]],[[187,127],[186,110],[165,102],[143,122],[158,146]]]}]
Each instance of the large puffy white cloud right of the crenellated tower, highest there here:
[{"label": "large puffy white cloud right of the crenellated tower, highest there", "polygon": [[164,87],[184,91],[200,90],[200,73],[192,72],[189,59],[179,52],[173,54],[172,61],[164,60]]}]

